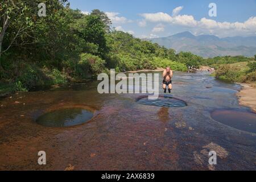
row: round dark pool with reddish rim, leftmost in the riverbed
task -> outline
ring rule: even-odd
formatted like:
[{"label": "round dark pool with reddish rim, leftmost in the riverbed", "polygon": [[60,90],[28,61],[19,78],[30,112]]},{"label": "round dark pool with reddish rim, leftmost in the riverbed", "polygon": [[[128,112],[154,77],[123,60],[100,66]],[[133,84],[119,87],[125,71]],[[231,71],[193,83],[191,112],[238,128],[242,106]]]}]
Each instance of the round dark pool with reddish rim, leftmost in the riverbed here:
[{"label": "round dark pool with reddish rim, leftmost in the riverbed", "polygon": [[69,127],[88,122],[92,117],[93,113],[85,109],[60,109],[41,115],[36,123],[46,127]]}]

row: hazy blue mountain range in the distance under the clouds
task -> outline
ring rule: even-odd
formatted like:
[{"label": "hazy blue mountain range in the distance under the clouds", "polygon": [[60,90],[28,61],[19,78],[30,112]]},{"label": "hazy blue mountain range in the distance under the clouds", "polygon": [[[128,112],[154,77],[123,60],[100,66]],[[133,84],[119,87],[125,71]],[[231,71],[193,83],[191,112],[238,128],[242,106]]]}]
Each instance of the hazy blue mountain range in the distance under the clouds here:
[{"label": "hazy blue mountain range in the distance under the clouds", "polygon": [[189,51],[203,57],[256,55],[256,36],[218,38],[214,35],[195,36],[182,32],[166,38],[147,39],[160,46],[175,49],[177,52]]}]

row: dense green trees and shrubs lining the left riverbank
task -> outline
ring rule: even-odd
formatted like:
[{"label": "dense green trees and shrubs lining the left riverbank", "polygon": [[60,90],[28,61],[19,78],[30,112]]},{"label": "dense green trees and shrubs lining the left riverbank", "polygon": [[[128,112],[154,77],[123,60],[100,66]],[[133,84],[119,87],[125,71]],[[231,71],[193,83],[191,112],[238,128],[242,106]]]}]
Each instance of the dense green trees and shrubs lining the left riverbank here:
[{"label": "dense green trees and shrubs lining the left riverbank", "polygon": [[[187,71],[192,65],[231,59],[203,59],[134,38],[113,30],[102,11],[85,15],[70,9],[67,0],[44,0],[46,16],[40,17],[41,2],[0,2],[0,93],[85,81],[110,68],[122,72],[171,66]],[[232,58],[241,59],[247,58]]]}]

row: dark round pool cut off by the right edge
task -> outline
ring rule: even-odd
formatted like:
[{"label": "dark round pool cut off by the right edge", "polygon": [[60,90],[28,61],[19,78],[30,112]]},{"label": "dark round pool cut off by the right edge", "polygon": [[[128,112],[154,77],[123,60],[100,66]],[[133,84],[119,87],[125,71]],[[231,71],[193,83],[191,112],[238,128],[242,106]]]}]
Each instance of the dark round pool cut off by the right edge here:
[{"label": "dark round pool cut off by the right edge", "polygon": [[256,133],[256,114],[237,110],[215,110],[211,117],[224,125],[238,130]]}]

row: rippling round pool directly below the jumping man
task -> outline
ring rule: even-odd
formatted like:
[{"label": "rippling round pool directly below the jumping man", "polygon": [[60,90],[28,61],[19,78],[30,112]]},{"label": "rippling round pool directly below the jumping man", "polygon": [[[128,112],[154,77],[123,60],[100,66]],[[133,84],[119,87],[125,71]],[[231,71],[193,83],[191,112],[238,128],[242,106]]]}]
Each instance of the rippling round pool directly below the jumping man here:
[{"label": "rippling round pool directly below the jumping man", "polygon": [[171,96],[159,96],[156,100],[148,100],[148,96],[139,97],[138,104],[157,106],[157,107],[185,107],[187,103]]}]

